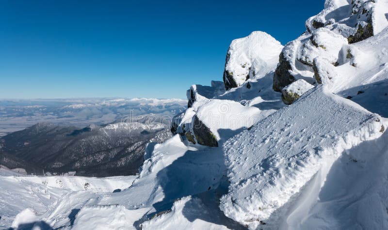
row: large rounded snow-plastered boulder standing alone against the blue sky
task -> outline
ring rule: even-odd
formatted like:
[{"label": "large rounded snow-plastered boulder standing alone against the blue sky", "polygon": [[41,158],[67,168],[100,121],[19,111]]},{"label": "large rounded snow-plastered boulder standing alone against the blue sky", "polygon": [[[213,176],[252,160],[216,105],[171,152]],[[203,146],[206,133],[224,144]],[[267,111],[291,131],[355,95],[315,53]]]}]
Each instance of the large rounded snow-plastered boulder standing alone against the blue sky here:
[{"label": "large rounded snow-plastered boulder standing alone against the blue sky", "polygon": [[[283,46],[271,35],[254,31],[245,38],[233,40],[226,54],[224,84],[225,88],[235,88],[241,86],[252,75],[252,63],[256,60],[255,68],[265,66],[273,69],[277,63],[277,56]],[[255,70],[254,72],[258,72]]]}]

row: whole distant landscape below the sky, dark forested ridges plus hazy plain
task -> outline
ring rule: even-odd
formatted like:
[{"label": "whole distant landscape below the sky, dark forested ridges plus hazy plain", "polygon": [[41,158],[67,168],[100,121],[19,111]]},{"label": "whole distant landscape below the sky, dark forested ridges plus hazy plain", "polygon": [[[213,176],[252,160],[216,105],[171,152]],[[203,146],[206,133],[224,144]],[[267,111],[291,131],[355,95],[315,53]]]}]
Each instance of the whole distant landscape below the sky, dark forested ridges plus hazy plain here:
[{"label": "whole distant landscape below the sky, dark forested ridges plus hazy plain", "polygon": [[133,175],[146,144],[171,137],[171,117],[186,104],[180,99],[2,100],[0,165],[38,175]]}]

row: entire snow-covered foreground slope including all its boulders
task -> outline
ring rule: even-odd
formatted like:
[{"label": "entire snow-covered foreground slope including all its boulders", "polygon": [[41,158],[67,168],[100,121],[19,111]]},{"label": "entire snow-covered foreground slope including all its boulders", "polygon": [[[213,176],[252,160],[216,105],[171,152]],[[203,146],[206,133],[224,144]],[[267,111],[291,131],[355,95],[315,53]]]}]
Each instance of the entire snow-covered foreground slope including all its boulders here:
[{"label": "entire snow-covered foreground slope including all its boulders", "polygon": [[326,0],[284,47],[235,40],[138,176],[8,173],[0,228],[388,229],[387,5]]}]

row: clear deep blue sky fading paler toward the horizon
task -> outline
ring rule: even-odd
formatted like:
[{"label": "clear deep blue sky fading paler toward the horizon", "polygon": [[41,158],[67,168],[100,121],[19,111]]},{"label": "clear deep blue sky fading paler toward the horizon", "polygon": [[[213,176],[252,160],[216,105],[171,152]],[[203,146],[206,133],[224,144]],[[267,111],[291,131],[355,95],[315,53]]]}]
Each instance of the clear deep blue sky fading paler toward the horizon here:
[{"label": "clear deep blue sky fading paler toward the horizon", "polygon": [[323,0],[0,0],[0,98],[185,98],[230,42],[297,38]]}]

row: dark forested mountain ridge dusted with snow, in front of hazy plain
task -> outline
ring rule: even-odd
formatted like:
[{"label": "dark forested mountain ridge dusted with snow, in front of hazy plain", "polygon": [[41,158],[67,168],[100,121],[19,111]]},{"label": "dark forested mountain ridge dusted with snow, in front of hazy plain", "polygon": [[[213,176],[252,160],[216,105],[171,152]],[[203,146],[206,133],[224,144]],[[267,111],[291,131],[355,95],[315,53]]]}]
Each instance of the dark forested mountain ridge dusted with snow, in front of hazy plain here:
[{"label": "dark forested mountain ridge dusted with snow, in front of hazy plain", "polygon": [[0,164],[27,173],[76,172],[81,176],[133,175],[146,144],[171,137],[162,123],[114,123],[77,129],[38,123],[0,139]]}]

